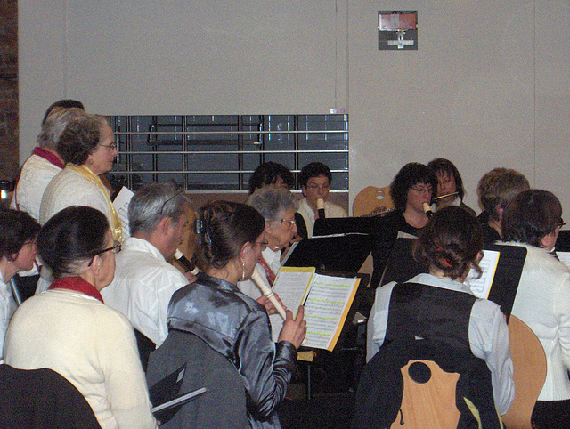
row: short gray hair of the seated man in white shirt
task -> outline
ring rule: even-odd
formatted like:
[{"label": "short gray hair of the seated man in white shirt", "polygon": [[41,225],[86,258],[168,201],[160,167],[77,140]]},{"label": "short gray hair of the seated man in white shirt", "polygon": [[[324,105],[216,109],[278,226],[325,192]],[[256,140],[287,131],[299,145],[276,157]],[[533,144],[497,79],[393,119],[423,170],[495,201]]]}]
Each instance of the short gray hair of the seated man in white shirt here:
[{"label": "short gray hair of the seated man in white shirt", "polygon": [[173,182],[151,183],[134,193],[128,205],[128,223],[131,235],[139,231],[151,233],[165,217],[176,226],[189,206],[188,199]]}]

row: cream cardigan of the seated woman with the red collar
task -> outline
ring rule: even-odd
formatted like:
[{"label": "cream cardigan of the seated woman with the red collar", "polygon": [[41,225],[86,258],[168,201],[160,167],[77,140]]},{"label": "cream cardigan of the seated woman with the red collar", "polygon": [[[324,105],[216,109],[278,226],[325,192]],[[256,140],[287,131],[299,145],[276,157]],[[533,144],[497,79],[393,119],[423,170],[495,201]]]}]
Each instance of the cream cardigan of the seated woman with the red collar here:
[{"label": "cream cardigan of the seated woman with the red collar", "polygon": [[133,328],[95,298],[68,289],[32,296],[12,317],[5,352],[14,368],[67,378],[103,429],[157,427]]}]

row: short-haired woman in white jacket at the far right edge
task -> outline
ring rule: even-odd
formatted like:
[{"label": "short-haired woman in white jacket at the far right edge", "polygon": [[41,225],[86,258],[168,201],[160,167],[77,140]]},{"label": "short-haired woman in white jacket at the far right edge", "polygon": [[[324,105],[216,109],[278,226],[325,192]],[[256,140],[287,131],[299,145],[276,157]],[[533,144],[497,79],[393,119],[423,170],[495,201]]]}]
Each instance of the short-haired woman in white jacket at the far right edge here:
[{"label": "short-haired woman in white jacket at the far right edge", "polygon": [[546,353],[546,380],[532,417],[537,428],[568,427],[570,415],[570,272],[551,254],[563,225],[560,201],[547,190],[520,192],[501,221],[508,244],[526,247],[512,314]]}]

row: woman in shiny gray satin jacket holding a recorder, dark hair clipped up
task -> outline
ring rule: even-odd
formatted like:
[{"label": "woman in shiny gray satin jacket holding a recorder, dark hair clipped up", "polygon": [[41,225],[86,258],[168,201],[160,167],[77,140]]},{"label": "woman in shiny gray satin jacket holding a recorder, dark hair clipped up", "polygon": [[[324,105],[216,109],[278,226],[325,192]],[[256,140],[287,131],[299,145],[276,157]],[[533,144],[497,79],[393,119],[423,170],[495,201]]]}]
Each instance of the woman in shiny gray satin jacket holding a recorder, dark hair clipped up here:
[{"label": "woman in shiny gray satin jacket holding a recorder, dark hair clipped up", "polygon": [[[297,348],[305,338],[303,307],[299,307],[297,319],[287,311],[279,340],[273,343],[264,306],[237,287],[238,281],[251,277],[267,246],[264,218],[253,207],[214,201],[201,208],[198,222],[206,266],[201,267],[204,272],[196,282],[172,296],[167,315],[169,334],[154,352],[159,358],[151,354],[147,376],[149,380],[157,378],[155,374],[164,372],[168,363],[176,368],[182,365],[175,356],[187,347],[184,338],[198,337],[230,360],[239,372],[250,425],[280,427],[275,409],[287,393]],[[225,411],[232,410],[224,403],[217,404],[218,422],[225,421]],[[180,423],[198,427],[195,421]]]}]

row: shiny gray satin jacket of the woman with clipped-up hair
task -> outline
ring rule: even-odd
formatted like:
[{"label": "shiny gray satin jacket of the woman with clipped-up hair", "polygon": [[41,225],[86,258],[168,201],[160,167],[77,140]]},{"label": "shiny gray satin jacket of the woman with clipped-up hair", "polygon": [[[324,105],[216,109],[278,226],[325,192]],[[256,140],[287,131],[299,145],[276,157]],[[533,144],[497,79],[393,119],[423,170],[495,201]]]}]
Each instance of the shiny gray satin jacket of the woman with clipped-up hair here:
[{"label": "shiny gray satin jacket of the woman with clipped-up hair", "polygon": [[167,324],[232,361],[245,385],[252,427],[281,427],[274,409],[287,393],[297,351],[287,341],[273,343],[263,305],[232,283],[200,274],[172,296]]}]

